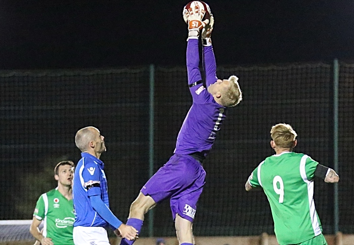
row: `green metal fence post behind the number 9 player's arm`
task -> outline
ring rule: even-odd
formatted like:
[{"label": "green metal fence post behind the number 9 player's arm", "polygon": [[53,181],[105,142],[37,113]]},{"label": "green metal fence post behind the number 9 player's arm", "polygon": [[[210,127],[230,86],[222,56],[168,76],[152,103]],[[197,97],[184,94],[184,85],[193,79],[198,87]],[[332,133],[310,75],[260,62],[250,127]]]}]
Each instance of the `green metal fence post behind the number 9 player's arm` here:
[{"label": "green metal fence post behind the number 9 player's arm", "polygon": [[[334,170],[338,171],[338,83],[339,64],[338,59],[333,62],[333,163]],[[338,183],[334,184],[334,234],[339,231],[339,205]]]}]

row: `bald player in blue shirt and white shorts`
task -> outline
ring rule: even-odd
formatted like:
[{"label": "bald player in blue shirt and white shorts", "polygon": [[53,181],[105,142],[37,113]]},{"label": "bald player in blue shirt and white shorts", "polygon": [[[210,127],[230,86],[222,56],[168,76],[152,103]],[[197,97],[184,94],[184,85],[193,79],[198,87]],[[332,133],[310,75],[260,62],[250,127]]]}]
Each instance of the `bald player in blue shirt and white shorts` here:
[{"label": "bald player in blue shirt and white shorts", "polygon": [[94,127],[77,131],[75,144],[81,150],[81,159],[74,173],[73,201],[75,244],[109,244],[106,227],[131,240],[137,239],[137,230],[123,224],[109,209],[107,179],[100,156],[106,151],[104,137]]}]

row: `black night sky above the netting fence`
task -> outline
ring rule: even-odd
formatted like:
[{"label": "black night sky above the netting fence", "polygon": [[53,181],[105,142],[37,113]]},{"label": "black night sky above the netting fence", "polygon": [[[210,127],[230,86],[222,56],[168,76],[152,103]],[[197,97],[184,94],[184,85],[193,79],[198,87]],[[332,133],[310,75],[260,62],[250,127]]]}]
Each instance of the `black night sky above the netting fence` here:
[{"label": "black night sky above the netting fence", "polygon": [[[188,1],[0,1],[0,69],[185,64]],[[207,2],[219,65],[354,60],[354,1]]]}]

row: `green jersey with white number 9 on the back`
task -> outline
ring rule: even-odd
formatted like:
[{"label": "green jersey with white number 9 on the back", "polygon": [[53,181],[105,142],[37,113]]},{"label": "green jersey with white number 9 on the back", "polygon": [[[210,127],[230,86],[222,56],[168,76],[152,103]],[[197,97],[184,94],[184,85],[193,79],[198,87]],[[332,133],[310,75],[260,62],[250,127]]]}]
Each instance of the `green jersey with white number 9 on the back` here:
[{"label": "green jersey with white number 9 on the back", "polygon": [[283,152],[262,161],[249,177],[262,187],[272,209],[279,244],[296,244],[322,233],[314,203],[314,173],[319,163],[311,157]]}]

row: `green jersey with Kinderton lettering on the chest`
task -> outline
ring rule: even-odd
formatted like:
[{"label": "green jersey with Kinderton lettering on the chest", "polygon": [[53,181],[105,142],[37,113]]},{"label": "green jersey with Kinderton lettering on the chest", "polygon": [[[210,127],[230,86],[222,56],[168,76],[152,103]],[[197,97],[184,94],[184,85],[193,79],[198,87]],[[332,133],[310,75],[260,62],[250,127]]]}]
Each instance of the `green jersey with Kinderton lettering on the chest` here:
[{"label": "green jersey with Kinderton lettering on the chest", "polygon": [[72,225],[75,221],[73,201],[67,200],[57,189],[40,196],[33,216],[44,221],[43,235],[52,238],[54,245],[74,244],[72,238]]}]

